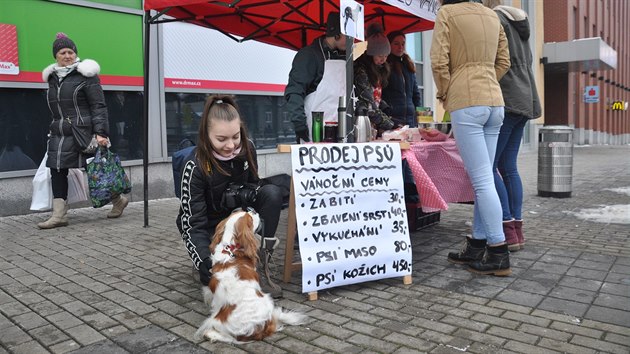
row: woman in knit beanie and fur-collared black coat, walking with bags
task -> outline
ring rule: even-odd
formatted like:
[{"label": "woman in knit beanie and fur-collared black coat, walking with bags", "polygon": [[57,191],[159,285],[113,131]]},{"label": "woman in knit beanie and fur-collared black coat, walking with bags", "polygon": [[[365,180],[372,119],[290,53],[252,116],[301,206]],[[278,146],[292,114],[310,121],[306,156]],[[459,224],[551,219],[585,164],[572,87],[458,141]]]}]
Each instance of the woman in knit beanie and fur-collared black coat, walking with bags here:
[{"label": "woman in knit beanie and fur-collared black coat, walking with bags", "polygon": [[[56,63],[44,69],[42,78],[48,82],[52,115],[46,167],[50,169],[54,199],[52,216],[37,224],[40,229],[68,225],[68,170],[85,167],[86,159],[93,155],[90,150],[95,150],[96,145],[109,146],[107,106],[98,78],[100,66],[94,60],[79,59],[76,44],[64,33],[57,33],[52,54]],[[96,141],[82,146],[73,134],[73,125],[85,137],[81,140],[90,142],[94,136]],[[116,196],[107,217],[119,217],[127,203],[125,197]]]}]

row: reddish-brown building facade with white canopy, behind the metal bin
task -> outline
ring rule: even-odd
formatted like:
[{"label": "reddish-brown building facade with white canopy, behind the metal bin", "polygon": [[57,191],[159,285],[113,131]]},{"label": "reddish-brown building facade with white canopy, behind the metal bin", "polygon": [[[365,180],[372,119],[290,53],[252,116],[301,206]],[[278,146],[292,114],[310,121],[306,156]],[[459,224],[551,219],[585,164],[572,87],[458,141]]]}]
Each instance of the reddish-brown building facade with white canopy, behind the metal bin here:
[{"label": "reddish-brown building facade with white canopy, behind the metal bin", "polygon": [[[543,2],[545,124],[574,128],[576,144],[630,143],[630,2]],[[569,53],[568,57],[562,54]]]}]

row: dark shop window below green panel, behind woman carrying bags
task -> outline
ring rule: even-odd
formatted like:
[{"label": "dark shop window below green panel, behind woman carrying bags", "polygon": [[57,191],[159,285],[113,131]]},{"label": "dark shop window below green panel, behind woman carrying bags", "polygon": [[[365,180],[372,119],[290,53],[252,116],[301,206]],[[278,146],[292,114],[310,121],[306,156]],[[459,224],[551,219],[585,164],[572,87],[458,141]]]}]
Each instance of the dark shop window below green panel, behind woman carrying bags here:
[{"label": "dark shop window below green panel, behind woman carrying bags", "polygon": [[[142,94],[105,91],[112,151],[142,158]],[[0,172],[37,169],[46,152],[46,90],[0,88]]]}]

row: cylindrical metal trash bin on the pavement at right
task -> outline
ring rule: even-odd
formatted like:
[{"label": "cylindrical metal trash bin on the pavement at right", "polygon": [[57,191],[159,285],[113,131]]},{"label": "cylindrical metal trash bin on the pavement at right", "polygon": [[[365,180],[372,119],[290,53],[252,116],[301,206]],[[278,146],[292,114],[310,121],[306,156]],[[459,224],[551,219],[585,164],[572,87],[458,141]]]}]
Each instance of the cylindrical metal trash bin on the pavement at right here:
[{"label": "cylindrical metal trash bin on the pavement at right", "polygon": [[573,128],[550,125],[538,132],[538,195],[571,197]]}]

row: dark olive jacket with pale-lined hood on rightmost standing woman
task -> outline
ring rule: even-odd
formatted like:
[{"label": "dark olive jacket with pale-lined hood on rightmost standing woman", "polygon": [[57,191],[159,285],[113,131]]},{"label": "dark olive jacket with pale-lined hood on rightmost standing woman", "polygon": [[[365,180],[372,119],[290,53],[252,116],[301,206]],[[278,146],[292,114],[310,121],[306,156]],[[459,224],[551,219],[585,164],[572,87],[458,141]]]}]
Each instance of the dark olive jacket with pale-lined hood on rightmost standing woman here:
[{"label": "dark olive jacket with pale-lined hood on rightmost standing woman", "polygon": [[528,119],[538,118],[542,115],[542,109],[532,71],[527,13],[510,6],[497,6],[494,10],[499,16],[510,48],[510,70],[499,81],[505,101],[505,113],[508,116],[513,114]]}]

